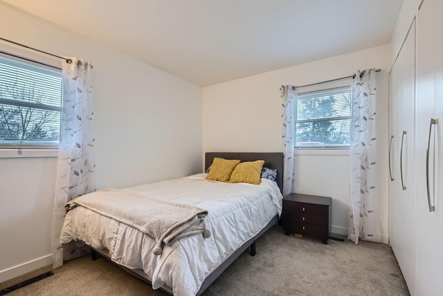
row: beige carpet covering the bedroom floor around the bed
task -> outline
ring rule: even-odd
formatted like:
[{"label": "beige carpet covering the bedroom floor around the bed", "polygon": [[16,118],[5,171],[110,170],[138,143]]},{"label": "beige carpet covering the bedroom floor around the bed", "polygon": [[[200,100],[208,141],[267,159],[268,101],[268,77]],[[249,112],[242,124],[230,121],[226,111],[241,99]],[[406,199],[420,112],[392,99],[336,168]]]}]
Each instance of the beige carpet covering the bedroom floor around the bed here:
[{"label": "beige carpet covering the bedroom floor around the bed", "polygon": [[[0,290],[51,267],[0,284]],[[54,275],[8,295],[167,295],[152,290],[107,259],[89,256],[65,262]],[[354,245],[285,236],[273,227],[204,293],[208,295],[409,295],[388,245]]]}]

